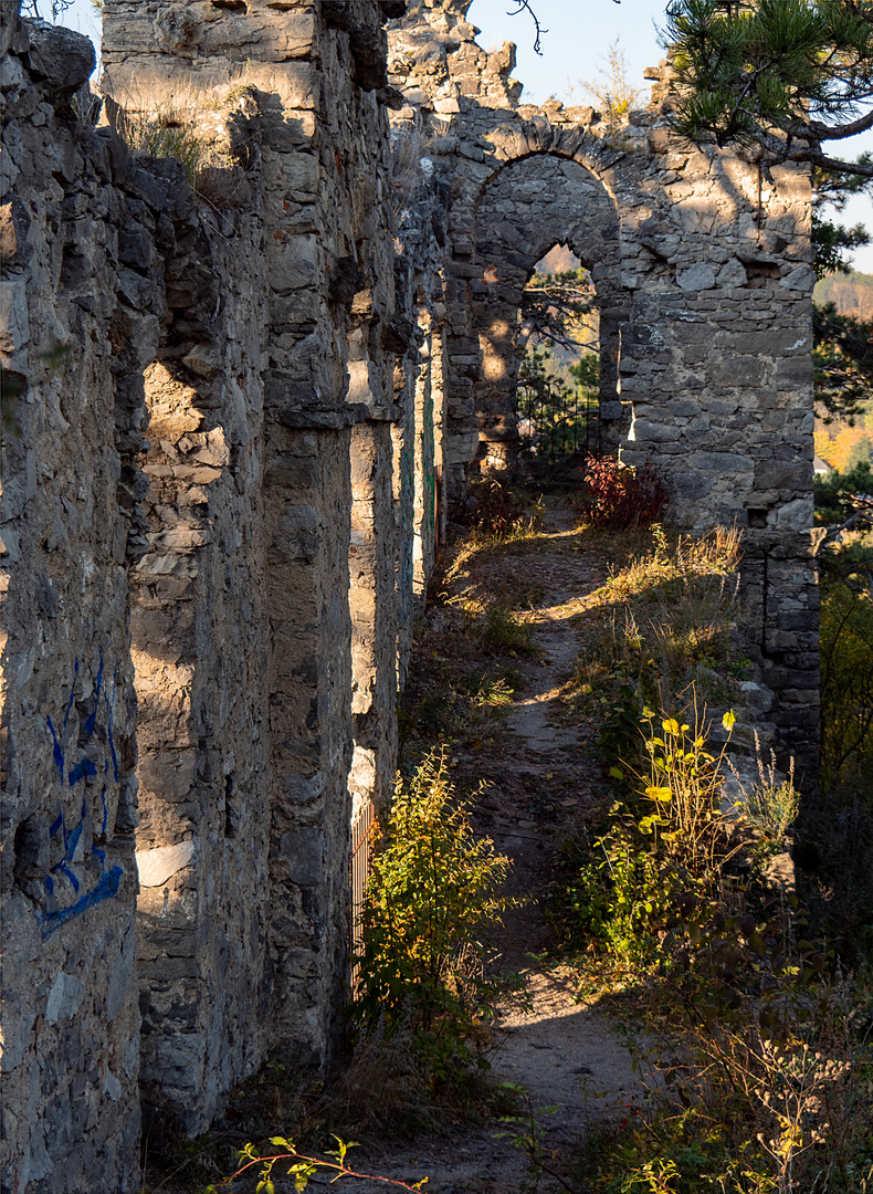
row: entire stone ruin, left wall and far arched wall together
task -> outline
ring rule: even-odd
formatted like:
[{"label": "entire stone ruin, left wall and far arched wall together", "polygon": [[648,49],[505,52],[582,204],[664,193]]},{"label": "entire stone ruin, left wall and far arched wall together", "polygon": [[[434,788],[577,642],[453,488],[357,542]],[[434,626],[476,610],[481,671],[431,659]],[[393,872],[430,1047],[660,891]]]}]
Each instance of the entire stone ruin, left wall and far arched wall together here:
[{"label": "entire stone ruin, left wall and far arched wall together", "polygon": [[453,504],[512,464],[518,297],[555,242],[596,282],[604,438],[680,524],[744,528],[812,769],[809,184],[675,147],[660,72],[622,130],[520,105],[466,0],[106,0],[118,103],[229,94],[216,208],[78,118],[93,51],[17,7],[0,1181],[115,1192],[140,1108],[195,1134],[268,1053],[336,1045],[350,824],[389,799]]}]

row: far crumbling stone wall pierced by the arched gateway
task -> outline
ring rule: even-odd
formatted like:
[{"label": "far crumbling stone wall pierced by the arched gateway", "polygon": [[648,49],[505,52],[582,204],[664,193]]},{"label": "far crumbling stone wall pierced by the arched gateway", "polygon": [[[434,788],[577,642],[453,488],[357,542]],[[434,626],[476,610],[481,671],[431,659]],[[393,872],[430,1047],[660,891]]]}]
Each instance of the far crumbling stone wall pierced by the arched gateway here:
[{"label": "far crumbling stone wall pierced by the arched gateway", "polygon": [[[391,79],[451,178],[447,458],[512,467],[521,287],[566,242],[596,269],[602,413],[621,458],[651,461],[670,518],[745,533],[743,579],[782,752],[816,774],[818,593],[812,528],[809,178],[676,144],[666,63],[652,104],[608,128],[591,107],[518,104],[515,50],[487,54],[468,0],[392,23]],[[602,240],[585,238],[585,221]],[[615,362],[614,393],[610,364]],[[623,410],[622,410],[623,406]]]}]

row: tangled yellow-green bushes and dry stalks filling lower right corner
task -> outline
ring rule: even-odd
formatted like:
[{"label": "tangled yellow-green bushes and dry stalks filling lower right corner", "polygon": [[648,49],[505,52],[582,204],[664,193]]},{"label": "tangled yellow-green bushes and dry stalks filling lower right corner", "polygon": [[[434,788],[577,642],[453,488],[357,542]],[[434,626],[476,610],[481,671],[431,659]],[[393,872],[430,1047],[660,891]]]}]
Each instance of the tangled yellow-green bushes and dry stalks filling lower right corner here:
[{"label": "tangled yellow-green bushes and dry stalks filling lower right corner", "polygon": [[613,805],[565,909],[589,987],[634,991],[647,1030],[626,1029],[646,1097],[592,1146],[594,1188],[873,1188],[873,999],[768,873],[795,794],[762,771],[748,817],[723,808],[706,727],[644,713],[648,774]]}]

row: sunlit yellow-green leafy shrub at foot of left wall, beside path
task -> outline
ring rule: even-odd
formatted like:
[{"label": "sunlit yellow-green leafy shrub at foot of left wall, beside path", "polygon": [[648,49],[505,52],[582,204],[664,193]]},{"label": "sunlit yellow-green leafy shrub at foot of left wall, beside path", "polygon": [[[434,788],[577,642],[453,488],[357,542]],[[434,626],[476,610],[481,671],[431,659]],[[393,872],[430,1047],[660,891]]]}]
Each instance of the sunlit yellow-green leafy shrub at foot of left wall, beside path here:
[{"label": "sunlit yellow-green leafy shrub at foot of left wall, beside path", "polygon": [[466,1065],[487,1065],[482,1018],[493,984],[484,974],[485,933],[506,906],[499,888],[510,860],[474,833],[469,813],[444,747],[398,783],[356,959],[359,1032],[408,1028],[437,1084],[457,1081]]}]

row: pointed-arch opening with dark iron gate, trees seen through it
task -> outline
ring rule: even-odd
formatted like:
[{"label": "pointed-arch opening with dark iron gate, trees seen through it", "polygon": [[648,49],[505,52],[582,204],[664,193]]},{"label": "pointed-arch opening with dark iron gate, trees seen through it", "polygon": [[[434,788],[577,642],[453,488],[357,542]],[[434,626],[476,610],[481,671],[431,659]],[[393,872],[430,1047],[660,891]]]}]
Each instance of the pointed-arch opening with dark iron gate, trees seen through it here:
[{"label": "pointed-arch opening with dark iron gate, trees seen through it", "polygon": [[601,451],[600,319],[591,275],[566,245],[534,266],[520,310],[520,450],[540,464]]}]

